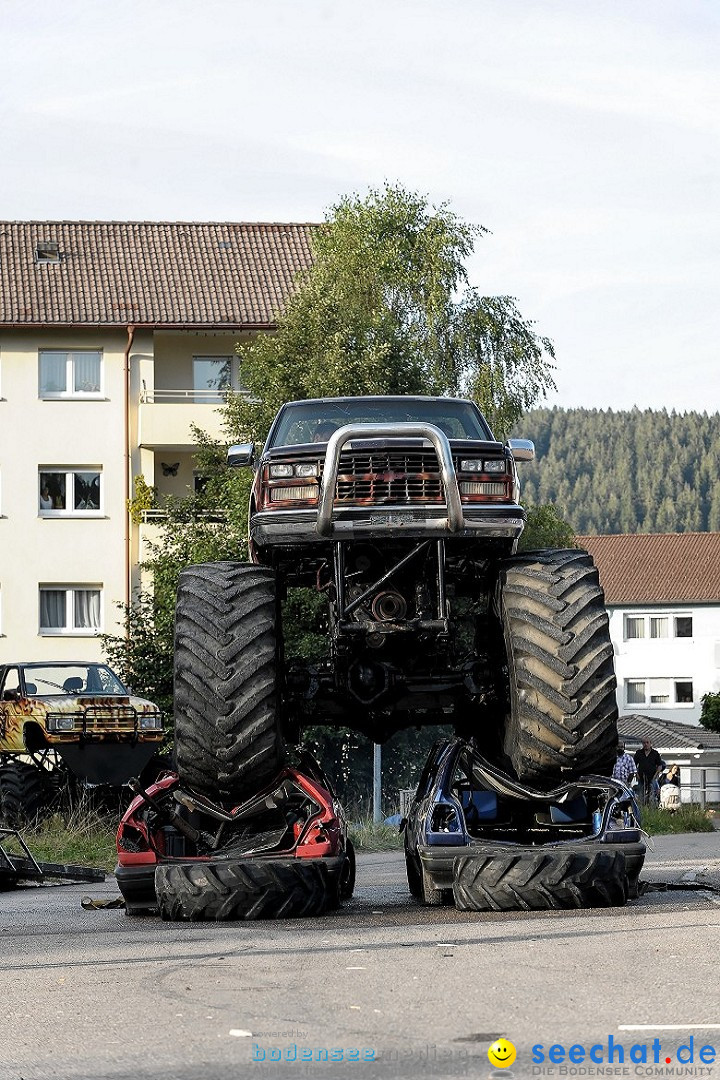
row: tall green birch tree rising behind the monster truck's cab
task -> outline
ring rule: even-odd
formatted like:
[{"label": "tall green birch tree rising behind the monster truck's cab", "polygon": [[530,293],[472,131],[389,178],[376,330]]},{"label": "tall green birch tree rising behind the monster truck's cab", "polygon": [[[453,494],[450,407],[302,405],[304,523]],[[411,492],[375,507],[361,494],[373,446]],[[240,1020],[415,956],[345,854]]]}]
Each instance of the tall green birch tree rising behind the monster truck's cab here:
[{"label": "tall green birch tree rising behind the monster truck's cab", "polygon": [[283,402],[342,394],[467,395],[505,436],[554,388],[555,354],[512,297],[471,287],[485,231],[399,186],[342,199],[277,333],[239,347],[250,396],[228,403],[231,436],[262,440]]}]

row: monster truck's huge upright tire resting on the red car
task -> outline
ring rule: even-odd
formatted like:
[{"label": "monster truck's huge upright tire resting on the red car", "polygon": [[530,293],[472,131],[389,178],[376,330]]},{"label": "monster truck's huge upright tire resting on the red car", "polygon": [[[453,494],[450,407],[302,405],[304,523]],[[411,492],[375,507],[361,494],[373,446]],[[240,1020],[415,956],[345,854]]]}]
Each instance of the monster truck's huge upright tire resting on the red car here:
[{"label": "monster truck's huge upright tire resting on the red car", "polygon": [[180,575],[175,616],[175,755],[199,792],[242,801],[284,760],[272,570],[205,563]]}]

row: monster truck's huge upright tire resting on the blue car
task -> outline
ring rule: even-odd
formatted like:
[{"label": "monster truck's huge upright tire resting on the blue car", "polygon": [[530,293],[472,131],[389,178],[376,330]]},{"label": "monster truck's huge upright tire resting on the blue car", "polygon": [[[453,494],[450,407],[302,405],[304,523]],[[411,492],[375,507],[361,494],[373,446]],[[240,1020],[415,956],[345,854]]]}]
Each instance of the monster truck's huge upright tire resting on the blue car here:
[{"label": "monster truck's huge upright tire resting on the blue car", "polygon": [[584,551],[528,552],[501,568],[497,609],[508,674],[504,754],[542,786],[610,774],[615,674],[598,571]]}]

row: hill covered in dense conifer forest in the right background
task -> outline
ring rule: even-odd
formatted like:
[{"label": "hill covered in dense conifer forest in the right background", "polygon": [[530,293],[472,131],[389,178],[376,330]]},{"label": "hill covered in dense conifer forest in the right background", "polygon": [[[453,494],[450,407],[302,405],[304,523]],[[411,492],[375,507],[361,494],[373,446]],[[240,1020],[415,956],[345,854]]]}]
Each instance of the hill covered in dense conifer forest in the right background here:
[{"label": "hill covered in dense conifer forest in the right background", "polygon": [[578,534],[720,530],[720,414],[541,408],[513,432],[525,505],[554,503]]}]

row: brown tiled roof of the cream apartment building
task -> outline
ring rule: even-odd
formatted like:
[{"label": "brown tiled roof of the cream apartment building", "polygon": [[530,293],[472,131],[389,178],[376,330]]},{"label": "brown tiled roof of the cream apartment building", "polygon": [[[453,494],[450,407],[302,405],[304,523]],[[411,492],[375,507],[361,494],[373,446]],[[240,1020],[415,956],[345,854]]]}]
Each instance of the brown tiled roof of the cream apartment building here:
[{"label": "brown tiled roof of the cream apartment building", "polygon": [[[0,221],[0,326],[272,325],[313,225]],[[59,259],[38,261],[38,243]]]}]

